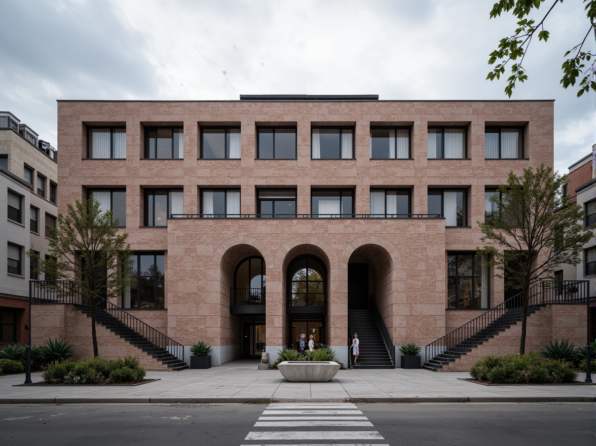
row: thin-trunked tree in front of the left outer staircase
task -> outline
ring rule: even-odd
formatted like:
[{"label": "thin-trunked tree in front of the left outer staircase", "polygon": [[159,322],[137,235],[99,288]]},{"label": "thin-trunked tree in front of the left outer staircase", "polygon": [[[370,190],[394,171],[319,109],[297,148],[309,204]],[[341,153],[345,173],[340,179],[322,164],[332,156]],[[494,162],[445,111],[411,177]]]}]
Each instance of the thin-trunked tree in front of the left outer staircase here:
[{"label": "thin-trunked tree in front of the left outer staircase", "polygon": [[66,214],[58,215],[57,228],[52,230],[49,240],[49,258],[42,260],[34,251],[27,253],[38,259],[37,269],[46,273],[46,279],[71,280],[80,290],[82,302],[91,306],[91,336],[96,357],[97,306],[105,299],[121,296],[130,280],[132,250],[127,238],[127,233],[119,233],[119,221],[112,219],[111,210],[104,211],[100,202],[89,197],[86,202],[76,200],[74,206],[67,205]]}]

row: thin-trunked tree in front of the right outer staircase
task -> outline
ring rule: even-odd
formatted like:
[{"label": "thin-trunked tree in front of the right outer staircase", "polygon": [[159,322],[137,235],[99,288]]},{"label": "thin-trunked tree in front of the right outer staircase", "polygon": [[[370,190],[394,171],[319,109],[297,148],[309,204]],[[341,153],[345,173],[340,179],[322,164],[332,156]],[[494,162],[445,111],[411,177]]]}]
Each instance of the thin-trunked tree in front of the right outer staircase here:
[{"label": "thin-trunked tree in front of the right outer staircase", "polygon": [[499,186],[490,200],[495,212],[477,222],[483,243],[477,252],[493,265],[496,277],[505,278],[505,289],[522,292],[522,338],[520,354],[526,349],[526,321],[529,289],[538,281],[552,278],[561,264],[577,265],[583,245],[591,237],[581,224],[583,209],[563,195],[566,175],[552,173],[544,164],[523,175],[510,172],[507,184]]}]

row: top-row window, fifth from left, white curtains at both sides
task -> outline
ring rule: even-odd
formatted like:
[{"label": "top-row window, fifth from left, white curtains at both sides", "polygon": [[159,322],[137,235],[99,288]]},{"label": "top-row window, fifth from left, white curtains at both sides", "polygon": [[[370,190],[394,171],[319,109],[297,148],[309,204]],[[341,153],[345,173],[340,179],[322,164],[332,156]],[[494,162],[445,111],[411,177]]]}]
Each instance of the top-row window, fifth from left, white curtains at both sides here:
[{"label": "top-row window, fifth from left, white curtains at both sides", "polygon": [[353,128],[313,128],[311,136],[312,159],[354,158]]}]

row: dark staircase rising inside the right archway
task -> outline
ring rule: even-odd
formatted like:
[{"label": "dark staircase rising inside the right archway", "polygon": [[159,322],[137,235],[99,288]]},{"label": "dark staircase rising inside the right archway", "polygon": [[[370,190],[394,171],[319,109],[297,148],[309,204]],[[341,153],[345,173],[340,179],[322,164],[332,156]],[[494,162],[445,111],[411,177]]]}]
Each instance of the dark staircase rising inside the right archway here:
[{"label": "dark staircase rising inside the right archway", "polygon": [[[353,309],[347,312],[350,336],[353,339],[354,333],[358,333],[360,339],[360,355],[357,369],[370,368],[395,368],[392,357],[387,349],[383,334],[378,326],[373,310]],[[351,339],[350,339],[351,345]],[[350,350],[350,358],[352,351]],[[351,361],[351,359],[350,359]]]}]

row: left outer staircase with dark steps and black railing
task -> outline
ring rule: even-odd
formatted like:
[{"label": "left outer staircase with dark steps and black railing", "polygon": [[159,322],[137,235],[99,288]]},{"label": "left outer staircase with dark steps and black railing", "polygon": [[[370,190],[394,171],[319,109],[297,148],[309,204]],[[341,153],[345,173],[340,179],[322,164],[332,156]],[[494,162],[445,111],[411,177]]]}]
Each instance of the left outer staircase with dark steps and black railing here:
[{"label": "left outer staircase with dark steps and black railing", "polygon": [[[29,299],[32,305],[62,303],[72,305],[91,317],[91,305],[83,303],[77,284],[69,280],[31,281]],[[122,339],[151,355],[171,370],[188,368],[184,361],[184,346],[117,305],[96,296],[95,324],[105,327]]]}]

